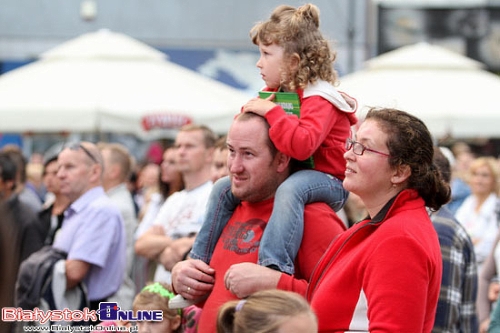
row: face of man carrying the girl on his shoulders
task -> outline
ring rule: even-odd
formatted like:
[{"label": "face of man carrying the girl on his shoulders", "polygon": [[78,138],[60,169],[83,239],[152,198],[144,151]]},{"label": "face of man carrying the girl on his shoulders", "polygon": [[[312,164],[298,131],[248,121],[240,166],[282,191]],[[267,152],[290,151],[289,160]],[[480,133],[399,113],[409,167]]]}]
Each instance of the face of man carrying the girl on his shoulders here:
[{"label": "face of man carrying the girl on his shoulders", "polygon": [[274,196],[283,166],[267,145],[267,128],[258,118],[233,122],[227,159],[231,191],[240,200],[259,202]]}]

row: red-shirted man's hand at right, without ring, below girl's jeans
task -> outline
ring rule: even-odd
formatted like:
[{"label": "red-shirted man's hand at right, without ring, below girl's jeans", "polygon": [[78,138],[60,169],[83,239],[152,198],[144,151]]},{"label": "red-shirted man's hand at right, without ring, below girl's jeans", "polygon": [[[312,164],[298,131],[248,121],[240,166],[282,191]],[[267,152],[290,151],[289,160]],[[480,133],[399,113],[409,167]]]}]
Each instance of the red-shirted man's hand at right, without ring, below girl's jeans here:
[{"label": "red-shirted man's hand at right, without ring, below girl's jeans", "polygon": [[276,288],[281,274],[267,267],[244,262],[229,267],[224,283],[231,293],[238,298],[245,298],[259,290]]}]

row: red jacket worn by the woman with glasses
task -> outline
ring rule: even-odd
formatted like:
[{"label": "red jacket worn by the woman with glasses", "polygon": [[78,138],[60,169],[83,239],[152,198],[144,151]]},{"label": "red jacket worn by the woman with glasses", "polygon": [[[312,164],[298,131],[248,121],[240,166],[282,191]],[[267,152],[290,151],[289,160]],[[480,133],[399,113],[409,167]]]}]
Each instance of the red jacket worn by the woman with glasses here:
[{"label": "red jacket worn by the woman with glasses", "polygon": [[319,262],[307,299],[319,332],[431,332],[441,250],[415,190],[340,235]]}]

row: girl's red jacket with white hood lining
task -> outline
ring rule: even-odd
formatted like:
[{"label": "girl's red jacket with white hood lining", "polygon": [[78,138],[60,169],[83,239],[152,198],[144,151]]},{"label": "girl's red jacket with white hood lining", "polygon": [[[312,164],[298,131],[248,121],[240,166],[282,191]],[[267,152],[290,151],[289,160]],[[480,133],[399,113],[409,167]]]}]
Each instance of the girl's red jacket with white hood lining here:
[{"label": "girl's red jacket with white hood lining", "polygon": [[343,180],[345,140],[357,122],[356,101],[324,81],[297,94],[300,119],[279,105],[267,112],[271,140],[279,151],[297,160],[312,155],[316,170]]}]

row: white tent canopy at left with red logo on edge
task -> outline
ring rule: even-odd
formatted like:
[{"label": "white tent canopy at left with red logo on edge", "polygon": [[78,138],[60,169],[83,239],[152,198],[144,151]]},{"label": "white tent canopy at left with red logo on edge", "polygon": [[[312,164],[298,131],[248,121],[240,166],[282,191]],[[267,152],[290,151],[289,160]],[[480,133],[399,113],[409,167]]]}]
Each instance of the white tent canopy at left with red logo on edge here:
[{"label": "white tent canopy at left with red logo on edge", "polygon": [[126,35],[84,34],[0,76],[0,132],[169,137],[187,122],[224,133],[248,95]]}]

